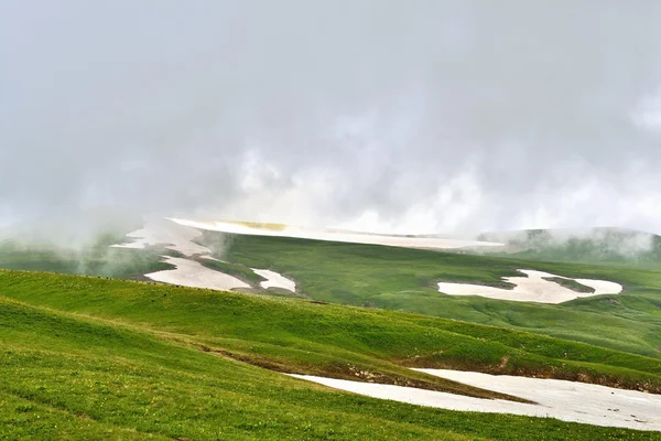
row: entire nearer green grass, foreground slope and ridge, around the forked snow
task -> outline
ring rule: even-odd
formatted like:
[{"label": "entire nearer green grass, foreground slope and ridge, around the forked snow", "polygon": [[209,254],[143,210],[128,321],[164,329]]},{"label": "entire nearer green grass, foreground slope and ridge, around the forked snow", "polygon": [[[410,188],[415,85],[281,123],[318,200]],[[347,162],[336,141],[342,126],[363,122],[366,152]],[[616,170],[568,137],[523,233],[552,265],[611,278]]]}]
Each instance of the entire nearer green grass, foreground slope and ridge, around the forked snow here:
[{"label": "entire nearer green grass, foreground slope and ridge, around the forked snow", "polygon": [[488,370],[509,356],[508,369],[653,388],[653,358],[305,300],[22,271],[0,271],[0,287],[6,439],[661,439],[380,401],[260,367],[479,396],[402,365]]}]

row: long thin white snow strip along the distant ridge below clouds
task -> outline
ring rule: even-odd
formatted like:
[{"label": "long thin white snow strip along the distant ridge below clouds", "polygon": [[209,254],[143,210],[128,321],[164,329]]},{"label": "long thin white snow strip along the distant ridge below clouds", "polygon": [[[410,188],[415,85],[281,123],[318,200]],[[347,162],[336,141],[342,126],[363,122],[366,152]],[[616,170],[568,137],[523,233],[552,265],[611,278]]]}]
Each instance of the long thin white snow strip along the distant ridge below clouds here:
[{"label": "long thin white snow strip along the distant ridge below clouds", "polygon": [[306,229],[294,226],[286,226],[282,230],[252,228],[241,224],[230,222],[196,222],[187,219],[170,218],[180,225],[193,228],[206,229],[210,232],[221,232],[241,235],[257,236],[277,236],[292,237],[299,239],[313,239],[325,241],[342,241],[350,244],[366,245],[388,245],[404,248],[429,248],[429,249],[459,249],[478,247],[502,247],[503,244],[479,240],[444,239],[438,237],[420,236],[390,236],[378,234],[361,234],[355,232],[335,232],[324,229]]}]

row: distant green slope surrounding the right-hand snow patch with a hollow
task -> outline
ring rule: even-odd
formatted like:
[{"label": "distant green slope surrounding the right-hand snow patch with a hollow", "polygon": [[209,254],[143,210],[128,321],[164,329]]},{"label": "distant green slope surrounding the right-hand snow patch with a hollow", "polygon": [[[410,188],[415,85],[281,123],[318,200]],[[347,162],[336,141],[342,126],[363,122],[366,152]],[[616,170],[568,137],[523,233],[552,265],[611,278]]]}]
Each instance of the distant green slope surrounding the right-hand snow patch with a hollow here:
[{"label": "distant green slope surrounding the right-hand snow patch with a hollow", "polygon": [[[202,241],[217,236],[205,233]],[[226,259],[286,273],[315,300],[512,327],[661,357],[660,271],[281,237],[231,236],[225,244]],[[626,292],[553,305],[436,290],[441,280],[507,287],[501,278],[520,276],[517,269],[610,280],[624,284]]]}]

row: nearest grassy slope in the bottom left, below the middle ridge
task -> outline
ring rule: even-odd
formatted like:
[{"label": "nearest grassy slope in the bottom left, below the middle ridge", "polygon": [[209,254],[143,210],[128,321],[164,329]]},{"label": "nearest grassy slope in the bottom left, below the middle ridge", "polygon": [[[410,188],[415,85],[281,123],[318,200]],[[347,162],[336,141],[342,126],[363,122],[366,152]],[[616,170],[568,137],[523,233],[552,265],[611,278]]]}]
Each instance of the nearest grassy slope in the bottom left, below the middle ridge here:
[{"label": "nearest grassy slope in the bottom left, below the middle ridge", "polygon": [[409,424],[402,410],[389,417],[392,406],[364,418],[357,410],[369,400],[324,392],[150,334],[21,304],[1,306],[12,326],[11,333],[2,329],[0,358],[0,434],[8,439],[376,439],[435,432],[433,426]]}]

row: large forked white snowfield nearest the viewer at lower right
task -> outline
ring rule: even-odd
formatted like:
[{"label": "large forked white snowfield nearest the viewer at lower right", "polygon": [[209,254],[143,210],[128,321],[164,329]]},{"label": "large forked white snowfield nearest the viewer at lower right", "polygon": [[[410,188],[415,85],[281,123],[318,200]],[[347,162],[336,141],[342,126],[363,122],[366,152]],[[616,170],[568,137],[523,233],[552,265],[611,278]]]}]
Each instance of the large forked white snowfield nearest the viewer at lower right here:
[{"label": "large forked white snowfield nearest the viewer at lower right", "polygon": [[335,389],[442,409],[549,417],[595,426],[661,431],[661,395],[557,379],[496,376],[473,372],[416,369],[431,375],[525,398],[535,405],[473,398],[413,387],[294,375]]}]

